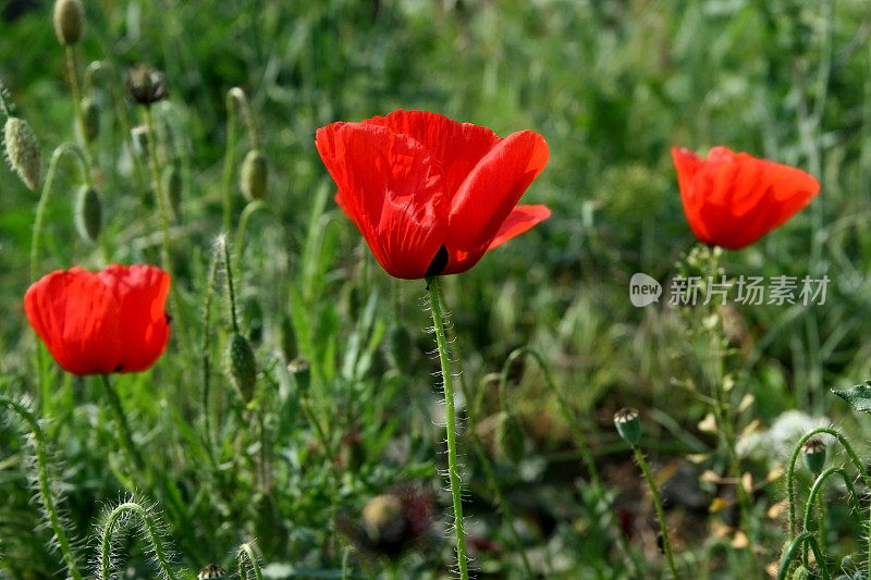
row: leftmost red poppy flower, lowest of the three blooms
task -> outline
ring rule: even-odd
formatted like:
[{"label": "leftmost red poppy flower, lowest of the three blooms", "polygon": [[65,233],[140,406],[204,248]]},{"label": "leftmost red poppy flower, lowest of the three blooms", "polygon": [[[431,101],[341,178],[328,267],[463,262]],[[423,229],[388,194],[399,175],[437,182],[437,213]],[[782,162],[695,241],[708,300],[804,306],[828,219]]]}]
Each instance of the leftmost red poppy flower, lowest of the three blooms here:
[{"label": "leftmost red poppy flower, lowest of the three blooms", "polygon": [[81,268],[42,276],[24,295],[36,334],[74,374],[149,368],[170,337],[164,310],[170,275],[154,266]]}]

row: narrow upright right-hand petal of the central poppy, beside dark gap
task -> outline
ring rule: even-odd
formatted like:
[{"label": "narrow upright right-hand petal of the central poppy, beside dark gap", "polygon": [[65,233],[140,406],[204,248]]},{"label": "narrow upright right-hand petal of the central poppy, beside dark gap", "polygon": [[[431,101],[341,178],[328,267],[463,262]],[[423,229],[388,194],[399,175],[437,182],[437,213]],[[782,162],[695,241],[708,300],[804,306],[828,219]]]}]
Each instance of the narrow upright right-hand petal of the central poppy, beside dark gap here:
[{"label": "narrow upright right-hand petal of the central poppy, beside dark gap", "polygon": [[480,259],[549,156],[541,135],[523,131],[481,159],[452,199],[446,242],[451,260],[445,273],[467,270]]}]

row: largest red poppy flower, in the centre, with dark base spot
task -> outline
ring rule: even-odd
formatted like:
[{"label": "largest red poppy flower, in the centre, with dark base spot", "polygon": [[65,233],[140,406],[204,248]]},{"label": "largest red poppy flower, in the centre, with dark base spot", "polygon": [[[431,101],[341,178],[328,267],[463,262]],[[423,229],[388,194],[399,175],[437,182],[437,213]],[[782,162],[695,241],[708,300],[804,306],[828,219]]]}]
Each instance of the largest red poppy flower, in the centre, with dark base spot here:
[{"label": "largest red poppy flower, in the centre, with dark base spot", "polygon": [[550,217],[517,201],[548,162],[531,131],[487,127],[426,111],[394,111],[319,128],[315,145],[335,201],[396,277],[456,274]]}]

